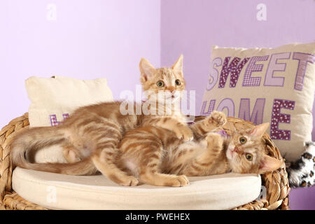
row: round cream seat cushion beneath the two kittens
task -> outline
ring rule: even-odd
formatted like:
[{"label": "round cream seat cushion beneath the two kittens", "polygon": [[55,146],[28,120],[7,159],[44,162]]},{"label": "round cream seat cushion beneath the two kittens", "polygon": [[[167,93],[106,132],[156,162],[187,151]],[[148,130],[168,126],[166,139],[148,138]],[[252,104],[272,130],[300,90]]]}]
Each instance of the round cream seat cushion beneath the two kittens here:
[{"label": "round cream seat cushion beneath the two kittens", "polygon": [[190,177],[183,188],[118,186],[105,176],[68,176],[17,167],[13,190],[49,209],[232,209],[260,195],[258,174]]}]

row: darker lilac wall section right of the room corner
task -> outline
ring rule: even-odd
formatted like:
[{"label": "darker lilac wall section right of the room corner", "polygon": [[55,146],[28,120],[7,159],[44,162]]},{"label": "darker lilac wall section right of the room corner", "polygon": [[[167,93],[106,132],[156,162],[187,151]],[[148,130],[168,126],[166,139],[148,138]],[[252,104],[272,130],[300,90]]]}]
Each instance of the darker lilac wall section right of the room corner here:
[{"label": "darker lilac wall section right of the room corner", "polygon": [[[258,3],[267,6],[266,21],[256,18]],[[183,53],[184,76],[188,90],[196,90],[198,113],[212,45],[272,48],[315,41],[314,0],[161,0],[161,12],[161,65]],[[315,115],[315,106],[313,111]],[[292,190],[290,204],[292,209],[315,209],[315,188]]]}]

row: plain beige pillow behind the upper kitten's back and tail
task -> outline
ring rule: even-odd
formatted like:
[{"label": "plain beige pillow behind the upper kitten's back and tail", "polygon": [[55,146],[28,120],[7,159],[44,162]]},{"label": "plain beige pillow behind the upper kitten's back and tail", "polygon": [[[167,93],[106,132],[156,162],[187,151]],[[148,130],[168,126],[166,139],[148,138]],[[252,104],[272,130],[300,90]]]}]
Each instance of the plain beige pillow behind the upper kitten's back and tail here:
[{"label": "plain beige pillow behind the upper kitten's back and tail", "polygon": [[[106,78],[78,80],[63,76],[31,77],[25,81],[29,106],[30,127],[58,125],[80,106],[113,101]],[[62,148],[43,148],[28,155],[34,162],[65,162]],[[34,156],[34,158],[30,158]]]}]

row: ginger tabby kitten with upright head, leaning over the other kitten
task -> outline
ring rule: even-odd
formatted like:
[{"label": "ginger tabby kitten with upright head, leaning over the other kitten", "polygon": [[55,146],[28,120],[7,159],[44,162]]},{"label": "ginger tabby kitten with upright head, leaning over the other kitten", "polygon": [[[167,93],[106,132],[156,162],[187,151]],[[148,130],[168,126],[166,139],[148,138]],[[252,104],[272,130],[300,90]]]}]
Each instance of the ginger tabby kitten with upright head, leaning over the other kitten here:
[{"label": "ginger tabby kitten with upright head, leaning over the other kitten", "polygon": [[[146,59],[141,59],[139,69],[144,91],[154,93],[148,96],[148,101],[144,104],[148,109],[158,105],[158,109],[167,111],[167,114],[122,115],[122,102],[81,107],[55,127],[34,127],[18,133],[11,144],[10,158],[13,166],[69,175],[88,175],[99,171],[120,185],[137,184],[138,180],[134,176],[128,176],[116,165],[118,144],[125,132],[151,125],[172,130],[176,138],[184,141],[193,139],[193,132],[186,125],[186,119],[174,106],[181,99],[179,92],[185,90],[186,85],[183,78],[183,55],[171,68],[161,69],[155,69]],[[171,105],[158,104],[160,99],[156,95],[161,91],[164,94],[162,96],[172,102]],[[62,144],[64,157],[72,163],[31,163],[26,160],[27,153],[54,144]]]}]

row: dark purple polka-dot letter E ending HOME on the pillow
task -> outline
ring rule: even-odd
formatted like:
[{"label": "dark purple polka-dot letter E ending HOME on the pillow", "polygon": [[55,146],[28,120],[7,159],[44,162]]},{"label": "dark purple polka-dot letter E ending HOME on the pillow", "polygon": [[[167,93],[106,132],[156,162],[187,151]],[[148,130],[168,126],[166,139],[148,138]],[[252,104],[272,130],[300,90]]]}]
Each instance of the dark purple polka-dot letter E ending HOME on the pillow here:
[{"label": "dark purple polka-dot letter E ending HOME on the pillow", "polygon": [[294,101],[285,99],[274,99],[274,106],[272,106],[272,119],[270,125],[270,137],[276,140],[290,140],[290,130],[279,130],[279,123],[290,123],[290,115],[280,113],[281,109],[293,110],[295,106]]}]

